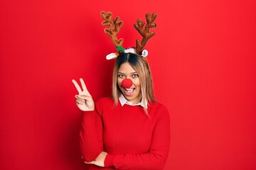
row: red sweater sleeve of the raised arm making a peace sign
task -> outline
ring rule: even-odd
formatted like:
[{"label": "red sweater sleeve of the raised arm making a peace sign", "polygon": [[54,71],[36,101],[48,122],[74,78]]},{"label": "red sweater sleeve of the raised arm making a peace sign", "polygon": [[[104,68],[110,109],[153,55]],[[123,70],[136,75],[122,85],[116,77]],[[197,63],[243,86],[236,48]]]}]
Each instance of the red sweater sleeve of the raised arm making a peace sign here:
[{"label": "red sweater sleeve of the raised arm making a peace sign", "polygon": [[102,120],[95,103],[94,111],[83,112],[80,130],[80,149],[86,162],[91,162],[102,152]]}]

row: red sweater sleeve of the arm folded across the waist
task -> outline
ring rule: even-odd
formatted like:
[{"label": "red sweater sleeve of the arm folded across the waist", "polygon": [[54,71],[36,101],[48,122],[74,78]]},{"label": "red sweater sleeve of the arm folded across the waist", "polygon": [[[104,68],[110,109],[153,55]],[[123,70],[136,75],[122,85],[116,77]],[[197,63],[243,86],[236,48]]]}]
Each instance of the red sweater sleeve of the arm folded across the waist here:
[{"label": "red sweater sleeve of the arm folded across the waist", "polygon": [[[105,166],[115,169],[163,169],[169,153],[170,118],[167,109],[161,106],[157,111],[156,125],[147,153],[107,154]],[[136,140],[136,139],[134,139]]]}]

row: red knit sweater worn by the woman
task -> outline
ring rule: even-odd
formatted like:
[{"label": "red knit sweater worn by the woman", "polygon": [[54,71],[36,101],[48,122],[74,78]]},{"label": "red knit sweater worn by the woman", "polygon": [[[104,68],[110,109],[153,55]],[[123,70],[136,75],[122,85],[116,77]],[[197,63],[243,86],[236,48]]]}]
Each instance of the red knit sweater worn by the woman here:
[{"label": "red knit sweater worn by the woman", "polygon": [[95,111],[83,113],[80,130],[82,157],[91,162],[107,152],[105,168],[163,169],[169,152],[170,119],[160,103],[149,103],[149,116],[142,106],[114,106],[112,98],[101,98]]}]

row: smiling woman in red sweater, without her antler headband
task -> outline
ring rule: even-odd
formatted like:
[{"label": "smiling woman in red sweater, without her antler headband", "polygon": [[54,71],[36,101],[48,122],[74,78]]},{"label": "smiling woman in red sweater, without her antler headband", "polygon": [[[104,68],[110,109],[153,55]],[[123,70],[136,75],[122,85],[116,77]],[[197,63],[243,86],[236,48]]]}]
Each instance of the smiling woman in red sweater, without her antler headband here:
[{"label": "smiling woman in red sweater, without her antler headband", "polygon": [[[132,86],[124,84],[127,79]],[[94,104],[82,79],[73,80],[83,113],[80,145],[91,169],[163,169],[169,152],[169,113],[154,99],[151,71],[137,54],[114,64],[112,98]]]}]

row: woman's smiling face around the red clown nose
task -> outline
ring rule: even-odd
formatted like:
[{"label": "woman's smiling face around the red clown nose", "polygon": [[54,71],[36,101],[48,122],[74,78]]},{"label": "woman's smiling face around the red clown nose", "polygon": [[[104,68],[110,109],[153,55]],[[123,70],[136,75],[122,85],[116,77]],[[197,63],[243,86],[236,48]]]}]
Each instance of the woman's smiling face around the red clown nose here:
[{"label": "woman's smiling face around the red clown nose", "polygon": [[[126,89],[122,86],[124,79],[131,79],[132,86]],[[117,72],[117,84],[127,101],[136,104],[142,100],[139,76],[129,62],[124,62]]]}]

